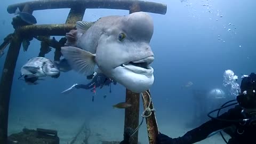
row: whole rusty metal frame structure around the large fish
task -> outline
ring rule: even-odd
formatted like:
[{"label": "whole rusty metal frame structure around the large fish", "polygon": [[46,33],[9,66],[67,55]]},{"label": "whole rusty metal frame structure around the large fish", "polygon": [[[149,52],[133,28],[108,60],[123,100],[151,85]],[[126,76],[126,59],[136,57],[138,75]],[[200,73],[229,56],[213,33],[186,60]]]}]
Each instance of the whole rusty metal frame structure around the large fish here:
[{"label": "whole rusty metal frame structure around the large fish", "polygon": [[[144,11],[158,14],[165,14],[167,11],[167,6],[165,4],[139,0],[39,0],[9,5],[7,7],[7,12],[10,14],[15,13],[15,10],[18,7],[22,12],[28,12],[30,14],[37,10],[63,8],[69,8],[70,12],[66,23],[64,24],[14,26],[15,30],[10,40],[10,46],[6,55],[0,81],[0,143],[7,143],[7,124],[11,87],[23,37],[65,36],[71,29],[75,29],[76,21],[83,20],[86,9],[119,9],[129,10],[130,13]],[[60,47],[57,48],[60,50]],[[140,94],[133,93],[126,89],[126,101],[132,104],[132,108],[125,110],[124,129],[129,127],[134,130],[139,124],[139,97]],[[145,101],[143,101],[145,108],[147,107],[146,102],[149,102],[149,98],[146,98]],[[150,107],[153,108],[152,103],[150,104]],[[153,144],[155,143],[156,133],[158,132],[154,113],[146,118],[146,121],[149,143]],[[137,143],[138,132],[131,138],[131,144]]]}]

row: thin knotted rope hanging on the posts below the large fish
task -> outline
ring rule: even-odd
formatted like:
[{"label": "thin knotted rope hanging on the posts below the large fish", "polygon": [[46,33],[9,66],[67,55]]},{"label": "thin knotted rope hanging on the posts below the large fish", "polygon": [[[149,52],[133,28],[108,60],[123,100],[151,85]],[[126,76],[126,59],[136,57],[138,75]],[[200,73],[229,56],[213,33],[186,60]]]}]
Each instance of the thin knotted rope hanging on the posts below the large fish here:
[{"label": "thin knotted rope hanging on the posts below the large fish", "polygon": [[[138,125],[138,127],[136,127],[136,129],[133,131],[133,133],[131,134],[130,137],[132,137],[132,135],[134,135],[134,134],[140,129],[140,126],[142,125],[144,118],[151,116],[152,111],[156,111],[154,108],[153,108],[153,109],[150,109],[151,96],[150,96],[150,94],[149,94],[147,91],[146,91],[146,93],[148,94],[148,97],[149,97],[148,106],[146,107],[146,109],[145,109],[145,110],[143,111],[143,113],[141,114],[141,116],[142,116],[141,123]],[[141,93],[141,95],[142,95],[143,100],[146,102],[143,93]]]}]

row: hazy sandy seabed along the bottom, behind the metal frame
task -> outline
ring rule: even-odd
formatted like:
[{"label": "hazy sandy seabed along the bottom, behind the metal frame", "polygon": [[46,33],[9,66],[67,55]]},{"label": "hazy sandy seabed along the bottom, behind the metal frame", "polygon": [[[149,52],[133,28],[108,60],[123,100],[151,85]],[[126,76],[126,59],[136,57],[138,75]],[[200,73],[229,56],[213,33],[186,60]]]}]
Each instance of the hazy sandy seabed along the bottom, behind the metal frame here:
[{"label": "hazy sandy seabed along the bottom, behind the metal frame", "polygon": [[[61,144],[70,143],[71,140],[78,133],[83,123],[87,121],[87,127],[90,127],[91,135],[89,143],[100,144],[101,141],[122,141],[124,130],[124,117],[115,115],[115,111],[109,111],[106,116],[99,115],[89,118],[82,117],[59,117],[47,113],[29,113],[15,111],[9,114],[9,131],[8,134],[21,132],[24,127],[27,129],[52,129],[58,131]],[[187,131],[191,130],[186,128],[180,121],[158,122],[158,128],[161,133],[169,135],[173,138],[180,137]],[[77,138],[75,143],[81,143],[83,135]],[[148,144],[146,121],[143,122],[139,129],[139,142],[141,144]],[[219,134],[215,134],[210,138],[197,142],[197,144],[221,144],[225,143]]]}]

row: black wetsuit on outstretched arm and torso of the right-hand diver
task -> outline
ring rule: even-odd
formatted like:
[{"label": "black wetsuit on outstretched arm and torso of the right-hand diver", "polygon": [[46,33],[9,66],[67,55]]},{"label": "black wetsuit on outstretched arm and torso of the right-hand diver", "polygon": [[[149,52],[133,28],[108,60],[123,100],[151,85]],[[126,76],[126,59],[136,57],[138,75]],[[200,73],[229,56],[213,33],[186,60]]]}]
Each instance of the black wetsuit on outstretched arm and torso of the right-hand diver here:
[{"label": "black wetsuit on outstretched arm and torso of the right-hand diver", "polygon": [[[241,113],[242,107],[236,106],[229,109],[226,113],[220,115],[219,119],[243,119],[245,118]],[[207,138],[207,135],[212,132],[225,129],[229,126],[235,126],[236,130],[233,134],[229,134],[231,138],[228,144],[255,144],[256,143],[256,125],[244,125],[242,126],[238,122],[225,122],[217,119],[211,119],[210,121],[202,124],[201,126],[188,131],[185,135],[179,138],[174,138],[172,144],[190,144],[195,143]],[[241,134],[239,134],[241,133]],[[242,133],[243,132],[243,133]]]}]

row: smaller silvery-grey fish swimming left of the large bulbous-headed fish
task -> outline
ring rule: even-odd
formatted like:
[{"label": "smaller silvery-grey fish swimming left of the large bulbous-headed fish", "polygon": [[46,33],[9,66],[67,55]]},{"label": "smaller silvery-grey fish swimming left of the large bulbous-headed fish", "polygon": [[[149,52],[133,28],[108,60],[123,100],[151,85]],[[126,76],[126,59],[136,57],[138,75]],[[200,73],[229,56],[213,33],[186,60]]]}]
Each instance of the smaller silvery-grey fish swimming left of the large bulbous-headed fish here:
[{"label": "smaller silvery-grey fish swimming left of the large bulbous-headed fish", "polygon": [[29,77],[45,77],[45,76],[58,76],[60,70],[54,63],[43,57],[35,57],[28,60],[25,65],[21,67],[21,76]]}]

